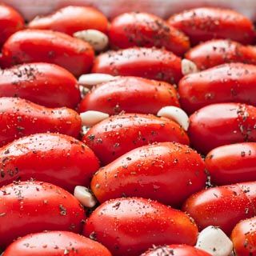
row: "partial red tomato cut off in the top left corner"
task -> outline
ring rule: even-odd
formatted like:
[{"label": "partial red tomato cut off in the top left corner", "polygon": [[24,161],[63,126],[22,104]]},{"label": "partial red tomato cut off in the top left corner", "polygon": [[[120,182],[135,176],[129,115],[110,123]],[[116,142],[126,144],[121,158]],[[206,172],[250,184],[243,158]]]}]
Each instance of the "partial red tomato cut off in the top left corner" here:
[{"label": "partial red tomato cut off in the top left corner", "polygon": [[24,28],[21,14],[10,6],[0,4],[0,48],[11,34]]}]

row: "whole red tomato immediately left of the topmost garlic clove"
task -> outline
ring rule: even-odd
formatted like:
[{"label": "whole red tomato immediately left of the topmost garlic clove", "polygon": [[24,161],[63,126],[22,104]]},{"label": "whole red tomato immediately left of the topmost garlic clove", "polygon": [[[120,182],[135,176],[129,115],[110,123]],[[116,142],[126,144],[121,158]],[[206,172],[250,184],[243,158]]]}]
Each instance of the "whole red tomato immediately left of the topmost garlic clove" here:
[{"label": "whole red tomato immediately left of the topmost garlic clove", "polygon": [[4,68],[28,63],[47,62],[69,70],[75,76],[90,72],[94,50],[89,43],[50,30],[18,31],[2,46]]}]

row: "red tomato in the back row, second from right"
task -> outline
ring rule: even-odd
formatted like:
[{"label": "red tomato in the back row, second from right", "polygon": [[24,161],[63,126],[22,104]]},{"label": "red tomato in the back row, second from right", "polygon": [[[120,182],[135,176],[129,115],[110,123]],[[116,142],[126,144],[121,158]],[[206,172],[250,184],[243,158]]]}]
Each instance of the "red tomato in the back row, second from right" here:
[{"label": "red tomato in the back row, second from right", "polygon": [[159,48],[183,55],[190,48],[189,38],[181,31],[153,14],[126,13],[111,22],[110,44],[116,48],[144,46]]}]

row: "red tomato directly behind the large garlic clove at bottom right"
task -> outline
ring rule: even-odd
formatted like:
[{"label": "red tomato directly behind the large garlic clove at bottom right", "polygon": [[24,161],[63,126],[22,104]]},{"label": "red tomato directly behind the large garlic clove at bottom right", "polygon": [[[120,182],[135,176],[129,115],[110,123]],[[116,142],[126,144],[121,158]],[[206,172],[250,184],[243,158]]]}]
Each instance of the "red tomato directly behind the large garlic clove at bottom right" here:
[{"label": "red tomato directly behind the large garlic clove at bottom right", "polygon": [[202,190],[188,198],[182,208],[200,230],[218,226],[230,234],[242,219],[256,215],[256,182],[244,182]]}]

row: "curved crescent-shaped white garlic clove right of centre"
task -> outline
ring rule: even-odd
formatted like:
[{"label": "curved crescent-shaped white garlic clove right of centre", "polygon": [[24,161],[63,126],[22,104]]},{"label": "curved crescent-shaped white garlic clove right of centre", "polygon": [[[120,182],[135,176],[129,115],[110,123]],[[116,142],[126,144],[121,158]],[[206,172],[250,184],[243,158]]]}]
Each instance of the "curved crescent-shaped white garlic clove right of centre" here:
[{"label": "curved crescent-shaped white garlic clove right of centre", "polygon": [[184,130],[189,128],[189,117],[186,112],[177,106],[164,106],[158,111],[158,116],[162,118],[168,118],[174,122],[178,122]]}]

